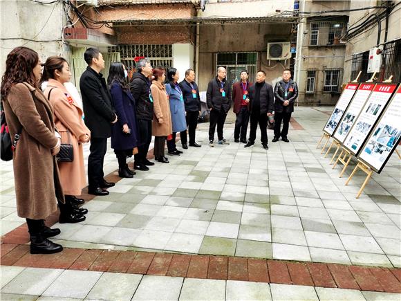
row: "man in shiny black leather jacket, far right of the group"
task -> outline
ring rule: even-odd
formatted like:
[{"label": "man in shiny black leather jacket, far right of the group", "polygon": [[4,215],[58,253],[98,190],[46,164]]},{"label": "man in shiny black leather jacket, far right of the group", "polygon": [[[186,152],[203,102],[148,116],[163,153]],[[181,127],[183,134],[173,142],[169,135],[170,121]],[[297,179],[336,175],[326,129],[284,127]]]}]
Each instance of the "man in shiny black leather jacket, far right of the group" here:
[{"label": "man in shiny black leather jacket, far right of the group", "polygon": [[[277,142],[280,136],[284,142],[290,142],[287,138],[288,125],[297,97],[297,83],[291,80],[290,69],[285,69],[283,71],[283,80],[280,80],[274,86],[274,138],[272,142]],[[283,129],[280,131],[281,120],[283,120]]]}]

